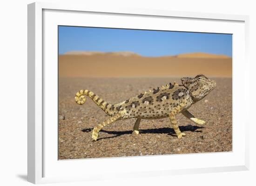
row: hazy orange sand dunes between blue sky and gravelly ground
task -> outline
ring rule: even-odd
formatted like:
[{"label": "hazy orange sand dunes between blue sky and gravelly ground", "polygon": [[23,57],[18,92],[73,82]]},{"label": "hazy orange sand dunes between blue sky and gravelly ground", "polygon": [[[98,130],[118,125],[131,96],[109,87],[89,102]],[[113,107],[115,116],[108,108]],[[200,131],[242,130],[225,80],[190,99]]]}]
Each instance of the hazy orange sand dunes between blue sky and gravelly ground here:
[{"label": "hazy orange sand dunes between blue sky and gravelly ground", "polygon": [[133,52],[85,52],[59,56],[60,77],[232,77],[232,58],[191,53],[142,57]]}]

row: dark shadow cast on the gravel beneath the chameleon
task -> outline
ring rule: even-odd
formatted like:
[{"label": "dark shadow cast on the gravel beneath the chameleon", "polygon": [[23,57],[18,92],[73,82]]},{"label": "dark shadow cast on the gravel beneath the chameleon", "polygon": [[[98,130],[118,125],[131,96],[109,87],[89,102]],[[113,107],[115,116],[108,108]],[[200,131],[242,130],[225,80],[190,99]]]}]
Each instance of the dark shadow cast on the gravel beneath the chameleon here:
[{"label": "dark shadow cast on the gravel beneath the chameleon", "polygon": [[[186,131],[191,131],[191,132],[202,132],[202,130],[197,130],[197,129],[201,129],[204,127],[198,127],[198,126],[192,126],[192,125],[187,125],[187,126],[179,126],[181,132],[186,132]],[[90,132],[92,131],[93,128],[84,128],[82,129],[83,132]],[[108,133],[110,135],[114,135],[114,136],[110,136],[110,137],[103,137],[103,138],[98,138],[98,140],[101,139],[107,139],[107,138],[114,138],[114,137],[118,137],[121,135],[128,135],[128,134],[132,134],[132,130],[127,130],[127,131],[107,131],[107,130],[101,130],[101,132],[105,132]],[[164,128],[149,128],[149,129],[140,129],[140,134],[168,134],[168,135],[175,135],[175,131],[173,128],[168,128],[168,127],[164,127]]]}]

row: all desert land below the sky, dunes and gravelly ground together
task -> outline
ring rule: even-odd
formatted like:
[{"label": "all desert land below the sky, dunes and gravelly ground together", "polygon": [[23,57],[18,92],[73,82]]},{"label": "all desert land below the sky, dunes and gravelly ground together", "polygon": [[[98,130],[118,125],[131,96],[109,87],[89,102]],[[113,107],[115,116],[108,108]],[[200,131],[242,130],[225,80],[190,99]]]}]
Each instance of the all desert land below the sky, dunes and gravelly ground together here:
[{"label": "all desert land below the sky, dunes and gravelly ground together", "polygon": [[[189,111],[206,121],[197,125],[177,115],[178,139],[168,118],[141,120],[140,134],[132,135],[136,119],[103,128],[97,141],[92,129],[108,119],[90,98],[74,101],[81,89],[93,91],[108,103],[119,103],[180,77],[204,74],[216,88]],[[232,151],[232,58],[208,53],[143,57],[133,52],[74,51],[59,56],[59,159]]]}]

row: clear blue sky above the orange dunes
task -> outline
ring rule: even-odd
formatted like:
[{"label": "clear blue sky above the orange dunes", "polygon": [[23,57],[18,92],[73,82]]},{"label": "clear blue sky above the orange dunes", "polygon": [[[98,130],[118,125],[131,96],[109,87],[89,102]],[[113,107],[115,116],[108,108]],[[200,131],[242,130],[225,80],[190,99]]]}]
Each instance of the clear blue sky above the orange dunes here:
[{"label": "clear blue sky above the orange dunes", "polygon": [[207,52],[232,57],[232,35],[59,26],[59,54],[67,51],[132,51],[147,57]]}]

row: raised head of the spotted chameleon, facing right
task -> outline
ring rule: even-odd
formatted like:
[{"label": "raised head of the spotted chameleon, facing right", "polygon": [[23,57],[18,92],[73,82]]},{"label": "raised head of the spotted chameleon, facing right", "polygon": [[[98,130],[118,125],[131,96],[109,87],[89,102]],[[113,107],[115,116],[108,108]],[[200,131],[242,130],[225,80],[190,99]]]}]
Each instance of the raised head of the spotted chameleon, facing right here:
[{"label": "raised head of the spotted chameleon, facing right", "polygon": [[199,101],[209,94],[216,87],[216,82],[202,74],[194,78],[182,77],[182,84],[186,87],[194,101]]}]

